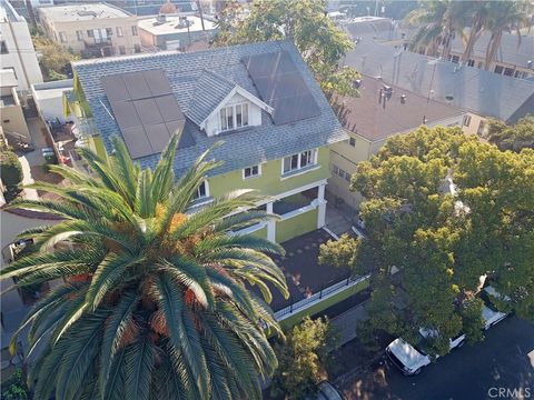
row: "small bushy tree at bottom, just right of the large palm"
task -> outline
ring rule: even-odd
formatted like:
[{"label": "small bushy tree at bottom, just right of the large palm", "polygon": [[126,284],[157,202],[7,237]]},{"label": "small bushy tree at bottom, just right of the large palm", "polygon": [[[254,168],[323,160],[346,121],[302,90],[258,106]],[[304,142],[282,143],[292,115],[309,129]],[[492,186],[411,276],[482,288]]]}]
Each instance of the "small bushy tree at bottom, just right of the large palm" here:
[{"label": "small bushy tree at bottom, just right of the large palm", "polygon": [[336,334],[328,319],[306,317],[295,326],[284,346],[277,347],[279,367],[273,377],[274,394],[304,399],[325,379],[328,352],[336,346]]}]

